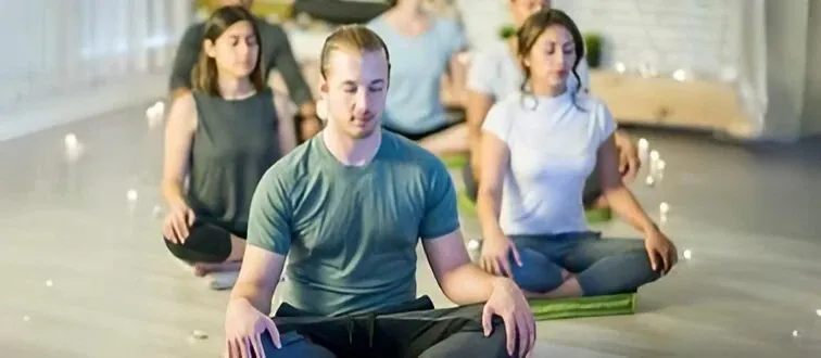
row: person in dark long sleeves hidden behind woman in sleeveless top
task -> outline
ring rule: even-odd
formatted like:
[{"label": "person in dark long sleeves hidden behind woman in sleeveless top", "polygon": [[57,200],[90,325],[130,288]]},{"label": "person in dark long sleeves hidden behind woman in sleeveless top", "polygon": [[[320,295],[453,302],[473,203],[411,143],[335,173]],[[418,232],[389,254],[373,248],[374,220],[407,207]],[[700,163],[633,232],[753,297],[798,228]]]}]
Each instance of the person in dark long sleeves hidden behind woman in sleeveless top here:
[{"label": "person in dark long sleeves hidden behind woman in sleeveless top", "polygon": [[[219,4],[223,7],[242,5],[251,9],[253,0],[219,0]],[[197,59],[200,57],[204,26],[205,23],[191,25],[179,42],[170,74],[172,100],[191,91],[191,71],[197,64]],[[286,86],[288,86],[291,100],[300,106],[299,135],[303,140],[311,138],[319,131],[321,122],[316,116],[316,106],[311,88],[305,82],[300,65],[291,52],[288,35],[281,27],[268,23],[264,18],[257,17],[256,26],[260,29],[257,36],[262,42],[260,66],[263,71],[263,78],[267,79],[273,69],[279,69]]]}]

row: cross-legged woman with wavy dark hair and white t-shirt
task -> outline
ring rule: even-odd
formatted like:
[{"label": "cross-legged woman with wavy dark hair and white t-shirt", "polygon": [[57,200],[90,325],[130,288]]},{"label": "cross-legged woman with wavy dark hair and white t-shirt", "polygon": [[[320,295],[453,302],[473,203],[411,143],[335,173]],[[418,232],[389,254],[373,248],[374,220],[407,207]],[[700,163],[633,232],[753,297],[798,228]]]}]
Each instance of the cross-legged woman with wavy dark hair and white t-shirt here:
[{"label": "cross-legged woman with wavy dark hair and white t-shirt", "polygon": [[[542,10],[519,29],[517,49],[528,86],[493,104],[482,125],[481,266],[531,297],[635,292],[678,255],[621,180],[607,106],[569,86],[581,34],[564,12]],[[612,209],[644,241],[590,231],[579,192],[594,167]]]}]

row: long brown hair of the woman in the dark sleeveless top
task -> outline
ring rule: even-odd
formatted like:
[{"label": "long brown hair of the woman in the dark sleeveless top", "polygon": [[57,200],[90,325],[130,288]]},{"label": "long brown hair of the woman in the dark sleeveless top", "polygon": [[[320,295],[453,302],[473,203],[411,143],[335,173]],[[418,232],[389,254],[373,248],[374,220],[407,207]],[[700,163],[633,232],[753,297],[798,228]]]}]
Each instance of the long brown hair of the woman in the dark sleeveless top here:
[{"label": "long brown hair of the woman in the dark sleeveless top", "polygon": [[256,27],[256,21],[254,20],[254,16],[248,10],[245,10],[245,8],[235,5],[217,9],[205,22],[205,28],[203,30],[201,42],[201,46],[203,48],[200,51],[200,59],[197,61],[197,65],[191,72],[191,82],[193,84],[194,90],[203,91],[211,95],[222,95],[219,93],[219,85],[217,84],[216,60],[205,53],[205,41],[209,40],[212,43],[216,42],[216,40],[220,36],[223,36],[223,33],[225,33],[228,27],[231,27],[233,26],[233,24],[243,21],[247,21],[251,24],[251,28],[253,28],[254,37],[256,38],[257,43],[256,64],[254,65],[254,69],[251,71],[249,79],[254,86],[254,89],[256,89],[257,91],[261,91],[265,87],[265,81],[263,80],[262,76],[262,68],[260,67],[260,63],[262,62],[262,59],[260,56],[260,53],[262,52],[262,46],[258,44],[261,42],[260,29]]}]

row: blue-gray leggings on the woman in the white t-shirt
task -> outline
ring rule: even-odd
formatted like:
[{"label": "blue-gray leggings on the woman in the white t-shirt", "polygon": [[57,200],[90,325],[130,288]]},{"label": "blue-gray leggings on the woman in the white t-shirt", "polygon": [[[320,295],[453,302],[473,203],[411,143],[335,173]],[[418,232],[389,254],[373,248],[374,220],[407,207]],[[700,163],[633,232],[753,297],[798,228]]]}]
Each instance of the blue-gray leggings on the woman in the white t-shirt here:
[{"label": "blue-gray leggings on the woman in the white t-shirt", "polygon": [[545,293],[558,287],[561,269],[577,274],[584,296],[635,292],[656,281],[641,240],[603,239],[597,232],[511,235],[522,266],[511,261],[513,279],[526,291]]}]

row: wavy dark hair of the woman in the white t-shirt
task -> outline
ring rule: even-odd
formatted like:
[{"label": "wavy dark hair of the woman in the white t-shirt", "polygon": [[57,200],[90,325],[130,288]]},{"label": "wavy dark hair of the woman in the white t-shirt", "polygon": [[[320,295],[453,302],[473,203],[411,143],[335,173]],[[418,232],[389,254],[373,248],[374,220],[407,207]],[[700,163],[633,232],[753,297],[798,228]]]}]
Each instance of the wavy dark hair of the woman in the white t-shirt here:
[{"label": "wavy dark hair of the woman in the white t-shirt", "polygon": [[566,28],[570,33],[570,37],[572,37],[573,39],[573,44],[576,48],[576,62],[573,63],[572,74],[579,84],[579,88],[577,88],[577,91],[572,92],[571,94],[573,105],[583,111],[583,108],[579,107],[579,105],[576,103],[576,94],[579,90],[581,90],[582,87],[581,78],[576,72],[576,68],[584,59],[584,38],[582,37],[581,31],[579,31],[579,27],[576,26],[573,20],[570,18],[570,16],[568,16],[561,10],[542,9],[539,12],[530,15],[525,21],[525,24],[522,24],[521,27],[519,27],[519,30],[516,33],[516,51],[519,56],[519,64],[525,71],[525,81],[521,84],[521,91],[525,93],[530,92],[528,88],[528,84],[531,80],[530,67],[525,64],[525,59],[530,55],[530,51],[533,50],[533,46],[535,46],[539,37],[542,36],[542,34],[544,34],[547,28],[554,25]]}]

